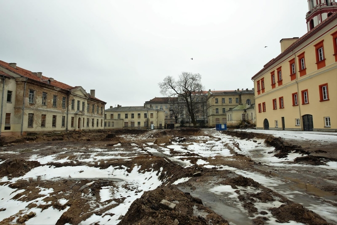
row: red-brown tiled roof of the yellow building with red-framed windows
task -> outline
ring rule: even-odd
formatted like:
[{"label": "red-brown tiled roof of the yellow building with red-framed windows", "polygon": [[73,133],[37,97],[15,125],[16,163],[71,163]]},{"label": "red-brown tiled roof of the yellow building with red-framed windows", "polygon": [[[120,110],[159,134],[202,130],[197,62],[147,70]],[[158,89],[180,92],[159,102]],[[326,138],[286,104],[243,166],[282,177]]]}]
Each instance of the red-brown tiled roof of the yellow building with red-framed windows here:
[{"label": "red-brown tiled roof of the yellow building with red-framed windows", "polygon": [[295,42],[293,42],[289,47],[287,47],[283,52],[281,52],[277,57],[271,59],[269,62],[267,62],[261,70],[259,70],[254,76],[251,77],[251,79],[255,78],[257,75],[259,75],[262,71],[266,70],[269,65],[273,64],[273,62],[276,62],[278,59],[289,53],[291,50],[293,50],[295,47],[303,43],[306,39],[308,39],[310,36],[312,36],[314,33],[318,32],[321,28],[323,28],[325,25],[329,24],[332,20],[337,18],[337,12],[334,12],[332,15],[327,17],[325,20],[323,20],[321,23],[313,27],[310,31],[305,33],[303,36],[298,38]]}]

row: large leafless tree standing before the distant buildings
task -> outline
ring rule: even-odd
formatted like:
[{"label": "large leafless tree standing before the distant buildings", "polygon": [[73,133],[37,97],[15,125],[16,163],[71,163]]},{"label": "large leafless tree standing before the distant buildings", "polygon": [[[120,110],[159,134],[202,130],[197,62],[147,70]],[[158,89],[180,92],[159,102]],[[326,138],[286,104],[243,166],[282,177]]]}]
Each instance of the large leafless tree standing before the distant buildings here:
[{"label": "large leafless tree standing before the distant buildings", "polygon": [[199,73],[182,72],[178,80],[174,80],[172,76],[166,76],[158,84],[162,95],[177,96],[179,100],[185,102],[191,122],[193,126],[196,126],[196,98],[203,89],[201,75]]}]

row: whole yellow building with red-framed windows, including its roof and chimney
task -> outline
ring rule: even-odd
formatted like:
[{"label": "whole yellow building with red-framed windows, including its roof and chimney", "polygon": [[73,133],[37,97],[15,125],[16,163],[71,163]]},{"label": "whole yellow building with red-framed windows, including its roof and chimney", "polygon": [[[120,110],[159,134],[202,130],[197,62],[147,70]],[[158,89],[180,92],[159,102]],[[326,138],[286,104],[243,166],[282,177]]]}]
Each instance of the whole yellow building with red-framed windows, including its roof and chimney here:
[{"label": "whole yellow building with red-framed windows, including its roof and chimney", "polygon": [[281,53],[251,78],[256,128],[336,131],[337,13],[280,44]]}]

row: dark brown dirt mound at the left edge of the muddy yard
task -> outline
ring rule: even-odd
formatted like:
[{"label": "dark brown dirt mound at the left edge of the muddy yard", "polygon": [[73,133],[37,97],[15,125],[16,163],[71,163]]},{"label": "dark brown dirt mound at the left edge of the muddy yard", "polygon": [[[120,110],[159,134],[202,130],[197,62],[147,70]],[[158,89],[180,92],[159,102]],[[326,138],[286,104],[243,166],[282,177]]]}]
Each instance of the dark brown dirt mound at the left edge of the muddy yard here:
[{"label": "dark brown dirt mound at the left edge of the muddy yard", "polygon": [[38,161],[26,161],[20,158],[8,159],[0,164],[0,177],[18,177],[24,175],[30,169],[40,166]]}]

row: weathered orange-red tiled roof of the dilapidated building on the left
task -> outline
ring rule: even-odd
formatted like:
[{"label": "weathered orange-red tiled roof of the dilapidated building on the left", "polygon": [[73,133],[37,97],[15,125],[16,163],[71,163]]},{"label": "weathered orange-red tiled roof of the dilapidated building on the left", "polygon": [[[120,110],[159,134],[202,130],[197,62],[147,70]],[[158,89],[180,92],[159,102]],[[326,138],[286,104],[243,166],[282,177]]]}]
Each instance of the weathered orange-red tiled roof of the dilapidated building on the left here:
[{"label": "weathered orange-red tiled roof of the dilapidated building on the left", "polygon": [[[49,79],[49,77],[46,77],[46,76],[43,76],[43,75],[40,78],[36,74],[34,74],[33,72],[31,72],[27,69],[24,69],[24,68],[20,68],[18,66],[16,66],[16,68],[13,68],[9,65],[9,63],[1,61],[1,60],[0,60],[0,66],[4,67],[4,68],[8,69],[9,71],[14,72],[14,73],[16,73],[20,76],[24,76],[24,77],[32,79],[32,80],[43,82],[43,80]],[[65,83],[62,83],[62,82],[59,82],[55,79],[53,81],[50,81],[49,84],[52,85],[52,86],[55,86],[55,87],[65,89],[65,90],[70,90],[70,89],[73,88],[72,86],[70,86],[68,84],[65,84]]]}]

